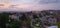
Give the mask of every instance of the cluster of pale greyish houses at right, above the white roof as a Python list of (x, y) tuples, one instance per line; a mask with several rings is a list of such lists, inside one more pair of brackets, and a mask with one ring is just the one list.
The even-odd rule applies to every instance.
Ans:
[(41, 19), (42, 25), (46, 24), (46, 25), (56, 25), (57, 23), (57, 19), (51, 16), (44, 16)]

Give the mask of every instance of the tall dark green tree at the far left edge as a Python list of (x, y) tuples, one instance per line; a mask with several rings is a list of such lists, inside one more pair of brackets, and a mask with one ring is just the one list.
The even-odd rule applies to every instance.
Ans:
[(8, 22), (8, 14), (7, 13), (2, 13), (0, 15), (0, 27), (1, 28), (6, 28), (6, 23)]

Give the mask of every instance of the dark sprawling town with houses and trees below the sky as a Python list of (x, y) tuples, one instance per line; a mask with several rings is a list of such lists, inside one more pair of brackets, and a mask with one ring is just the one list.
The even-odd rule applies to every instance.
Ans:
[(60, 24), (60, 10), (2, 12), (0, 20), (0, 28), (48, 28)]

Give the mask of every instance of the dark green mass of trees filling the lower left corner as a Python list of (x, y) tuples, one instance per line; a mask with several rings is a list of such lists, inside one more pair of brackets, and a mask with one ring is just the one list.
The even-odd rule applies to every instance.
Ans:
[[(6, 26), (6, 24), (8, 24), (8, 26)], [(0, 14), (0, 28), (20, 28), (20, 26), (21, 23), (17, 20), (10, 19), (8, 13)]]

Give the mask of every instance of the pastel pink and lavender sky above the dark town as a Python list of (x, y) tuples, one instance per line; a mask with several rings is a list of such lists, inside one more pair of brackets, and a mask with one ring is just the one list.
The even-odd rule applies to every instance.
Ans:
[(60, 0), (0, 0), (0, 11), (39, 11), (60, 9)]

